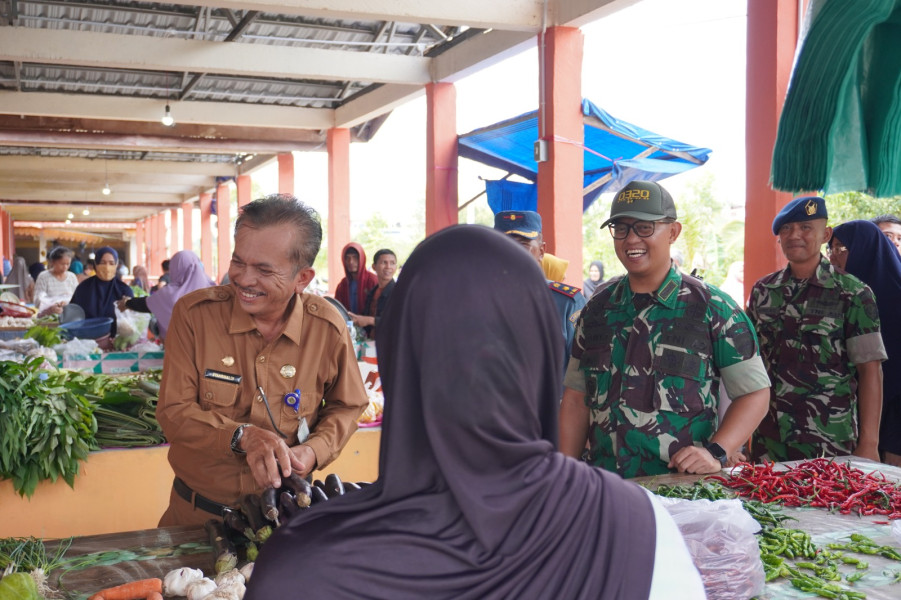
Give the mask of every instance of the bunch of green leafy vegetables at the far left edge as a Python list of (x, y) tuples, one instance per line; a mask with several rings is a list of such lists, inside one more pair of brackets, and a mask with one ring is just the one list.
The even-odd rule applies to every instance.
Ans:
[(64, 372), (39, 369), (42, 362), (0, 362), (0, 477), (21, 496), (45, 479), (72, 486), (96, 448), (93, 405), (66, 387)]

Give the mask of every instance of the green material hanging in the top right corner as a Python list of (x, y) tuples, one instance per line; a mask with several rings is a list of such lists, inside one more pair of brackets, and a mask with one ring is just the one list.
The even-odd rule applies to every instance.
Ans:
[(901, 0), (811, 0), (776, 144), (785, 191), (901, 193)]

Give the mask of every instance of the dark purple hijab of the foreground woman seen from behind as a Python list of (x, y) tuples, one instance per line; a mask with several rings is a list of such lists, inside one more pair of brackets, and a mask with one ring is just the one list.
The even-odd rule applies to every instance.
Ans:
[(377, 344), (378, 481), (279, 527), (246, 600), (648, 597), (647, 496), (556, 450), (560, 325), (528, 253), (481, 226), (432, 235)]

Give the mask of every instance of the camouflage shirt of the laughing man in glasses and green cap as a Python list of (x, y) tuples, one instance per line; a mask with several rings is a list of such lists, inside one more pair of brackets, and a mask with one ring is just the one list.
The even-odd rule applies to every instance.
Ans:
[(716, 431), (721, 376), (733, 398), (769, 386), (731, 298), (672, 268), (654, 294), (611, 280), (582, 310), (565, 379), (590, 409), (585, 459), (624, 477), (669, 473), (672, 454)]

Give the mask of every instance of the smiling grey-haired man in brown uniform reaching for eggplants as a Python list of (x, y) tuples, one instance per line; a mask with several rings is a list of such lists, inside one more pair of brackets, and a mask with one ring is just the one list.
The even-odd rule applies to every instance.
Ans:
[(243, 207), (228, 286), (175, 305), (157, 418), (175, 482), (160, 526), (202, 524), (246, 493), (337, 458), (368, 405), (344, 320), (304, 294), (322, 242), (293, 196)]

